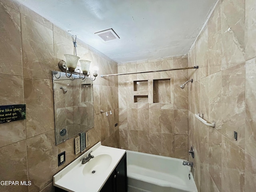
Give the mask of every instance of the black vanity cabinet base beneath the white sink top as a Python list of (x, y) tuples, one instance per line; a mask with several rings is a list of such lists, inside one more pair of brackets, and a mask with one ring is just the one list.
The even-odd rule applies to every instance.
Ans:
[(100, 190), (100, 192), (127, 192), (126, 153)]

